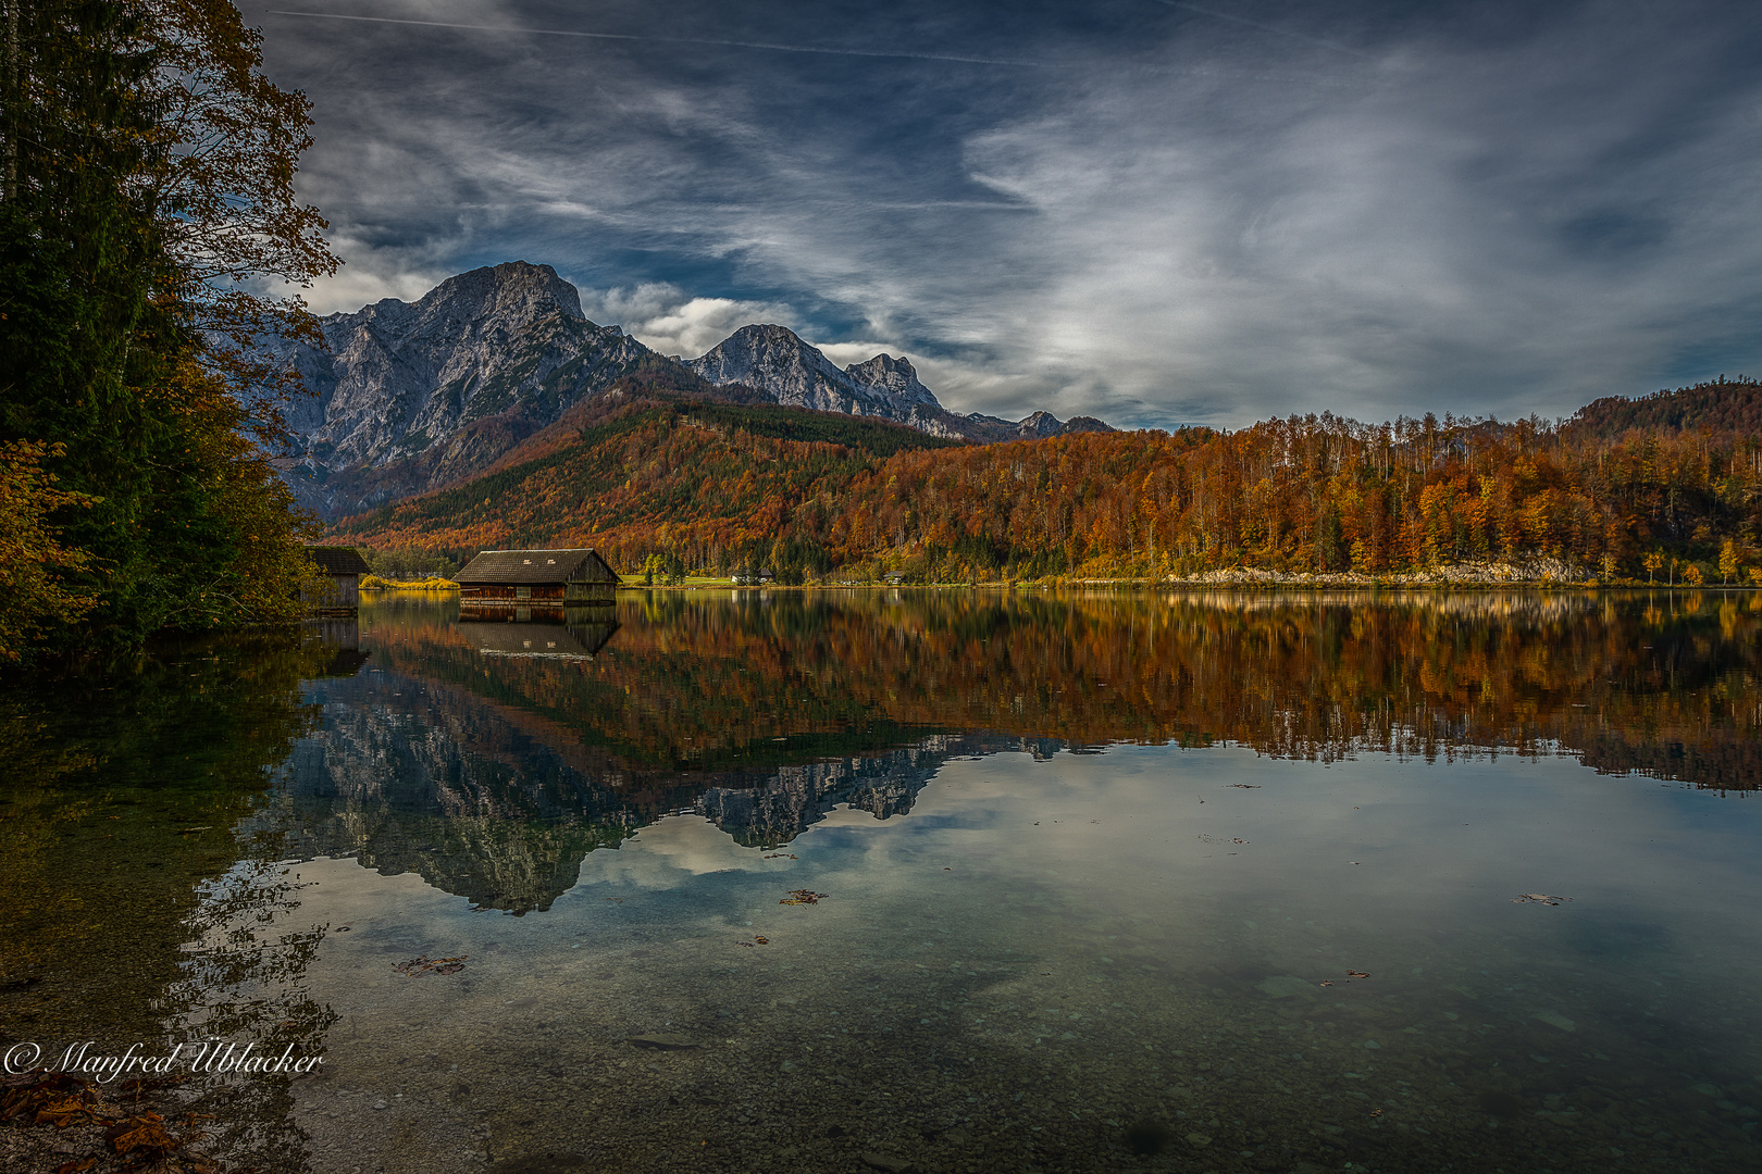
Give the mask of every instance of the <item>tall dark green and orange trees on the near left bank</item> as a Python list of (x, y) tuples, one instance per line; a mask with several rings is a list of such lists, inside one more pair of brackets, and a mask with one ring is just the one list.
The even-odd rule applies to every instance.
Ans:
[(292, 192), (308, 104), (226, 0), (0, 0), (0, 660), (292, 614), (270, 468), (335, 269)]

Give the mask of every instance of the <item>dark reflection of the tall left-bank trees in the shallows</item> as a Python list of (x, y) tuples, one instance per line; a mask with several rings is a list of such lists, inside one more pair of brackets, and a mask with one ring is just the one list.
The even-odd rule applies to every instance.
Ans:
[[(319, 709), (303, 685), (363, 664), (352, 621), (155, 644), (0, 688), (0, 1037), (49, 1054), (211, 1035), (322, 1040), (322, 933), (298, 882), (240, 838)], [(208, 1081), (187, 1109), (234, 1162), (307, 1167), (285, 1077)], [(42, 1155), (39, 1155), (42, 1156)], [(56, 1169), (78, 1155), (55, 1156)], [(28, 1160), (18, 1169), (32, 1169)]]

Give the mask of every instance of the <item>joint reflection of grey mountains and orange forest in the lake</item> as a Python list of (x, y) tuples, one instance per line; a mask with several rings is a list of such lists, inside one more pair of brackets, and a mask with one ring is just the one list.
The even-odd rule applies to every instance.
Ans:
[(481, 908), (546, 910), (666, 815), (777, 847), (951, 757), (1235, 743), (1572, 753), (1762, 781), (1755, 595), (648, 593), (532, 621), (393, 602), (254, 820)]

